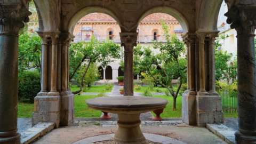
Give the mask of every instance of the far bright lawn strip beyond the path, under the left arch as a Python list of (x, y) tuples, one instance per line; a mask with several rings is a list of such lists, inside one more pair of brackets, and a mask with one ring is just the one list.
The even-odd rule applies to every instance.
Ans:
[[(112, 85), (111, 89), (106, 90), (106, 85), (93, 85), (91, 87), (89, 87), (88, 90), (86, 90), (85, 92), (101, 92), (103, 90), (105, 90), (105, 92), (111, 92), (113, 89), (114, 85)], [(72, 85), (70, 87), (71, 91), (77, 91), (79, 90), (79, 87), (77, 85)]]

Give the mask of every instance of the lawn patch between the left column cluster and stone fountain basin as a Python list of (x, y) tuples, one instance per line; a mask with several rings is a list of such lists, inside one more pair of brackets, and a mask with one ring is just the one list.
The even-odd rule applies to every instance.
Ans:
[(75, 95), (75, 117), (100, 117), (101, 111), (88, 108), (85, 101), (97, 98), (97, 95)]

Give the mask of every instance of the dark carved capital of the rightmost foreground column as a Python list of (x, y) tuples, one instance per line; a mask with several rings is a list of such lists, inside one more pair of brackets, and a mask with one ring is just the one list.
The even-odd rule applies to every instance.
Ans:
[(256, 5), (233, 5), (225, 16), (231, 28), (236, 29), (238, 35), (254, 35), (256, 28)]

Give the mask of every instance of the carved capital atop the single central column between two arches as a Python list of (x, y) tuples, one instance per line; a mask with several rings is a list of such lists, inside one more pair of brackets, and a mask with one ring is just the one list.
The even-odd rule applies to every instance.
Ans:
[(138, 33), (120, 33), (121, 45), (124, 46), (124, 51), (133, 51), (133, 47), (137, 46), (137, 36)]

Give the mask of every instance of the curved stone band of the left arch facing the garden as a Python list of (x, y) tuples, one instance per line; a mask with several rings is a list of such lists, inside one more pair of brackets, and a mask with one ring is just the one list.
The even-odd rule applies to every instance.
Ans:
[(117, 18), (117, 16), (114, 14), (113, 11), (107, 9), (106, 7), (100, 7), (100, 6), (90, 6), (90, 7), (85, 7), (84, 9), (81, 9), (79, 11), (77, 11), (72, 18), (70, 19), (70, 21), (68, 21), (68, 26), (67, 29), (69, 31), (69, 33), (73, 33), (74, 27), (77, 23), (77, 21), (79, 21), (79, 19), (81, 19), (82, 17), (84, 17), (84, 15), (90, 14), (90, 13), (94, 13), (94, 12), (98, 12), (98, 13), (105, 13), (110, 15), (110, 17), (112, 17), (113, 19), (115, 19), (117, 21), (117, 23), (119, 24), (120, 21)]

